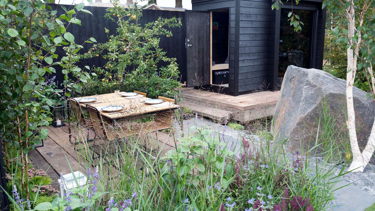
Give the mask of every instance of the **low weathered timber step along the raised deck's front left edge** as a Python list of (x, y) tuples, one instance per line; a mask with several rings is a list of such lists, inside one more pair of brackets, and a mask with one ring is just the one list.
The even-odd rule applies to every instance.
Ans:
[(182, 107), (187, 107), (193, 111), (193, 113), (197, 113), (198, 115), (214, 119), (217, 121), (224, 121), (227, 118), (231, 118), (233, 112), (219, 109), (219, 108), (212, 108), (207, 107), (205, 105), (193, 104), (191, 102), (183, 101), (180, 103)]

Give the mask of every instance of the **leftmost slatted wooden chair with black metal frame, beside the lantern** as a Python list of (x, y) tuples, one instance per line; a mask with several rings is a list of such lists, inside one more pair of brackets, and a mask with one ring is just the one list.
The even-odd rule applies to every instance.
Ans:
[[(90, 128), (92, 128), (92, 124), (90, 123), (91, 121), (88, 121), (84, 117), (84, 113), (83, 113), (83, 110), (80, 107), (80, 103), (76, 99), (69, 98), (68, 100), (69, 100), (69, 104), (70, 104), (70, 106), (73, 110), (74, 116), (77, 119), (76, 127), (78, 128), (78, 125), (82, 125), (83, 127), (87, 128), (87, 141), (88, 142), (93, 141), (95, 139), (95, 137), (94, 137), (94, 139), (89, 139)], [(74, 145), (74, 150), (77, 150), (77, 145), (80, 144), (80, 143), (83, 143), (83, 142), (77, 141), (77, 137), (76, 137), (76, 141), (72, 142), (72, 131), (71, 131), (70, 123), (68, 125), (68, 130), (69, 130), (69, 142)]]

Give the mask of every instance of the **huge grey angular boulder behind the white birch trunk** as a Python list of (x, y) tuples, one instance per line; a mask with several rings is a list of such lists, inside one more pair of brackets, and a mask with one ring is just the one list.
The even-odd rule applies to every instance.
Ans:
[[(288, 138), (287, 144), (292, 151), (314, 146), (321, 110), (326, 102), (328, 113), (336, 119), (335, 131), (339, 134), (336, 141), (349, 145), (345, 89), (345, 80), (327, 72), (289, 66), (273, 116), (275, 139)], [(375, 102), (366, 97), (366, 92), (356, 87), (353, 88), (353, 96), (357, 137), (362, 150), (374, 122)], [(321, 118), (321, 121), (323, 119), (328, 118)]]

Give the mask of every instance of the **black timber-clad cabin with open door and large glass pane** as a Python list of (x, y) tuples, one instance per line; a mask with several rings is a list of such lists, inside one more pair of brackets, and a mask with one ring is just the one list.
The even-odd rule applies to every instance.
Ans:
[[(192, 0), (186, 11), (186, 83), (228, 95), (278, 90), (288, 65), (323, 68), (323, 0)], [(303, 22), (294, 32), (292, 10)], [(213, 65), (214, 63), (214, 65)]]

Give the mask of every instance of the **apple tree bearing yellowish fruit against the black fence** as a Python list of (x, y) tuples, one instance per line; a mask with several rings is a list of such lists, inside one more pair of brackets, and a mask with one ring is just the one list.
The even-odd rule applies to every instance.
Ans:
[[(95, 44), (82, 58), (100, 56), (108, 62), (95, 69), (83, 89), (85, 95), (113, 92), (114, 89), (132, 92), (135, 89), (147, 90), (147, 96), (157, 98), (161, 93), (177, 96), (180, 87), (178, 64), (175, 58), (166, 57), (159, 47), (160, 36), (168, 38), (170, 27), (180, 27), (178, 18), (162, 18), (139, 24), (143, 7), (119, 5), (111, 1), (105, 18), (117, 24), (116, 34), (108, 34), (108, 42)], [(151, 1), (152, 2), (152, 1)], [(149, 3), (151, 3), (149, 2)], [(106, 33), (109, 31), (106, 29)]]

